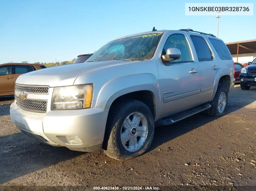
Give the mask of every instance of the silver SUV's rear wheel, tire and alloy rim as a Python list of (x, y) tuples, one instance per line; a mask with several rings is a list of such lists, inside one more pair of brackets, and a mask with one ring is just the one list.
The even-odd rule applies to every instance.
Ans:
[[(221, 101), (221, 98), (225, 97)], [(220, 85), (217, 88), (216, 94), (211, 102), (211, 107), (207, 110), (209, 116), (221, 116), (226, 113), (226, 107), (228, 104), (228, 91), (225, 86)]]

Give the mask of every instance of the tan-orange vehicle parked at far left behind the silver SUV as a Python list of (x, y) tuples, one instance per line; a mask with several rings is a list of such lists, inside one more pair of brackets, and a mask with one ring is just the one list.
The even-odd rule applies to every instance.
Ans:
[(6, 63), (0, 64), (0, 96), (14, 95), (16, 79), (25, 73), (46, 68), (41, 64)]

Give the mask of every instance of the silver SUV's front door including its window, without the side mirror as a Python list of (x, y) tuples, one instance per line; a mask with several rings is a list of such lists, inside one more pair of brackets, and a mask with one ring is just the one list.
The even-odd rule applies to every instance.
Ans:
[(161, 96), (161, 117), (165, 117), (198, 105), (200, 100), (200, 70), (194, 62), (191, 47), (185, 34), (171, 34), (162, 52), (168, 48), (181, 51), (181, 58), (164, 65), (158, 60), (158, 75)]

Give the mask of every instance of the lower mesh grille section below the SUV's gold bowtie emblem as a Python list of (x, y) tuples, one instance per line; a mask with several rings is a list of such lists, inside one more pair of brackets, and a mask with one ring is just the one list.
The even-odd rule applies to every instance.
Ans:
[(16, 104), (19, 108), (25, 111), (38, 113), (46, 113), (47, 100), (21, 99), (15, 95)]

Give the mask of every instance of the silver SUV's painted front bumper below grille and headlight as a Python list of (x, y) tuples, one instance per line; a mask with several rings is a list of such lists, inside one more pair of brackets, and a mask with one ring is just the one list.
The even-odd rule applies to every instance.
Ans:
[[(90, 152), (101, 150), (109, 107), (55, 110), (38, 116), (24, 113), (14, 102), (10, 115), (18, 129), (40, 142)], [(77, 135), (82, 143), (69, 143), (67, 135)]]

